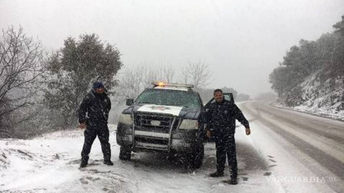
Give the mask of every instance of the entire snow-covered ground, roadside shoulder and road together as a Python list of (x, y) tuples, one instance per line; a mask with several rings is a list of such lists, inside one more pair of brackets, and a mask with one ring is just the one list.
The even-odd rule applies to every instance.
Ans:
[[(203, 166), (197, 170), (161, 154), (119, 160), (115, 125), (110, 125), (114, 166), (102, 163), (96, 139), (90, 164), (78, 169), (81, 130), (0, 140), (0, 192), (343, 192), (344, 122), (255, 101), (239, 106), (252, 134), (246, 136), (243, 126), (236, 131), (238, 185), (226, 183), (227, 168), (223, 178), (208, 177), (216, 170), (212, 143), (206, 144)], [(313, 182), (316, 177), (332, 181)], [(302, 182), (293, 180), (300, 178)]]

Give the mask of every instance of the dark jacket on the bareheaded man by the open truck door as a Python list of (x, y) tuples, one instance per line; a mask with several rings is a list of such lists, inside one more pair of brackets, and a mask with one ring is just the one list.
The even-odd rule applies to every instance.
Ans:
[(214, 102), (209, 105), (206, 120), (207, 128), (216, 136), (234, 134), (235, 120), (238, 120), (245, 128), (249, 127), (248, 121), (238, 106), (225, 99), (221, 103)]

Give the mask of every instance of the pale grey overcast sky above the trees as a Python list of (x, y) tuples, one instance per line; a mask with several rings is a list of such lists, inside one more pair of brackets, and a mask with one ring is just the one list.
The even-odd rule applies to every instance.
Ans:
[(47, 49), (97, 33), (116, 44), (125, 66), (204, 62), (208, 88), (256, 96), (301, 38), (332, 32), (344, 0), (0, 0), (0, 27), (22, 25)]

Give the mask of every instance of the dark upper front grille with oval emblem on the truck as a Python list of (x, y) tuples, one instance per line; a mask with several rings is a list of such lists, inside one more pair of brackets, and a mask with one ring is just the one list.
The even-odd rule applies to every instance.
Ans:
[[(174, 117), (170, 115), (135, 114), (135, 130), (149, 132), (170, 133), (170, 127)], [(173, 124), (173, 129), (178, 125), (178, 121)]]

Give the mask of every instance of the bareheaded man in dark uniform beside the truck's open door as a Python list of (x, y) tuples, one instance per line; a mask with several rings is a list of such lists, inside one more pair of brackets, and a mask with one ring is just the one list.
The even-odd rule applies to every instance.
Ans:
[(246, 128), (246, 135), (250, 135), (248, 121), (244, 117), (238, 106), (223, 98), (221, 89), (214, 91), (215, 102), (209, 105), (206, 112), (207, 118), (207, 137), (212, 136), (216, 145), (216, 169), (210, 177), (223, 177), (226, 155), (230, 167), (230, 182), (237, 184), (238, 166), (235, 147), (235, 120), (238, 120)]

